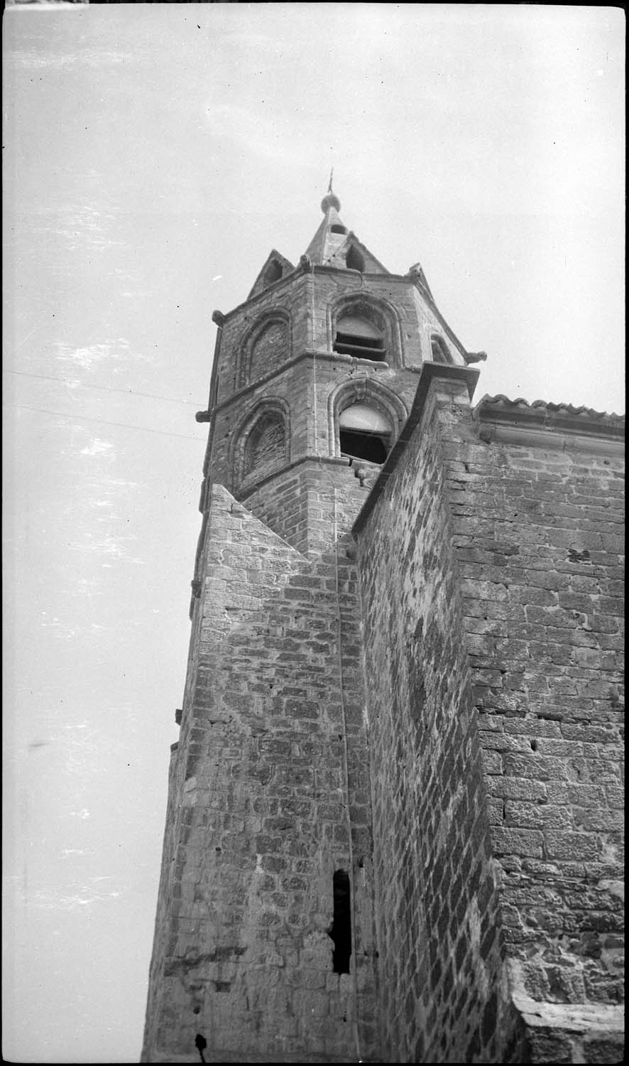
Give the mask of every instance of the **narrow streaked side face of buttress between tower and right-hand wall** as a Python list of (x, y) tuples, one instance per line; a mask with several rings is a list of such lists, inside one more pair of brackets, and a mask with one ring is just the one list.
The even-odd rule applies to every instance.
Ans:
[(358, 534), (385, 1062), (501, 1062), (510, 1036), (442, 466), (452, 405), (430, 394)]

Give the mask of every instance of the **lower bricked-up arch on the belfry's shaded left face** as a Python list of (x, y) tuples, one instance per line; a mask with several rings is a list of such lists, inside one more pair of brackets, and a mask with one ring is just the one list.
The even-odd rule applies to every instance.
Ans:
[(279, 398), (260, 400), (241, 419), (230, 448), (236, 486), (247, 486), (291, 462), (291, 411)]

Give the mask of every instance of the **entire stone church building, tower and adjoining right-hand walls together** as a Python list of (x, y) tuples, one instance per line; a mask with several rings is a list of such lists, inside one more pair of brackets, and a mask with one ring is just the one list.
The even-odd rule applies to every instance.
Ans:
[(142, 1061), (618, 1062), (624, 419), (321, 208), (213, 316)]

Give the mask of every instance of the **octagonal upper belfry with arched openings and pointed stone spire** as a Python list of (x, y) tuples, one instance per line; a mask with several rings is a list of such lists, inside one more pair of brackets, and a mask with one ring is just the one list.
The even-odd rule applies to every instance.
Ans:
[[(417, 264), (388, 273), (343, 223), (331, 182), (294, 266), (275, 249), (218, 326), (202, 511), (221, 484), (307, 555), (329, 546), (321, 486), (345, 520), (404, 424), (428, 361), (469, 357)], [(346, 513), (347, 512), (347, 513)]]

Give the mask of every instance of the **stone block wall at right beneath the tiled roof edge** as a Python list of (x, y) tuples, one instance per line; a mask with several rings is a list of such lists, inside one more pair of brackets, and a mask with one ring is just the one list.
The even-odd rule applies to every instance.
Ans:
[(512, 987), (548, 1023), (531, 1061), (614, 1061), (623, 465), (582, 437), (484, 442), (467, 413), (444, 433)]

